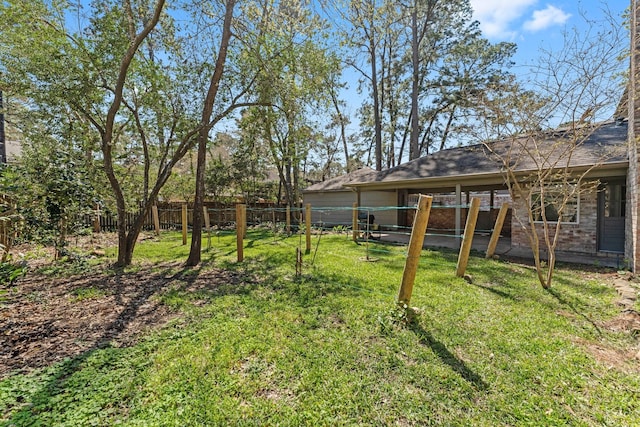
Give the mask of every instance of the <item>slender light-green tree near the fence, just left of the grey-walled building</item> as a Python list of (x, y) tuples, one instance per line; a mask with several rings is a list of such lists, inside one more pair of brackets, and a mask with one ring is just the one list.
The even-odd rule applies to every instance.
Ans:
[(268, 147), (284, 198), (296, 206), (304, 164), (319, 138), (317, 118), (331, 108), (327, 88), (336, 85), (339, 61), (324, 45), (324, 22), (303, 2), (265, 1), (254, 21), (259, 31), (245, 43), (259, 70), (256, 95), (263, 105), (244, 112), (241, 138)]

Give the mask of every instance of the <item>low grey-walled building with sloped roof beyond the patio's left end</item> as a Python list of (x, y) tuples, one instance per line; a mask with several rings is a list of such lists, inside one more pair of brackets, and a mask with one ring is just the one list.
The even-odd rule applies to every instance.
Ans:
[(396, 213), (381, 211), (375, 208), (395, 206), (397, 201), (394, 190), (367, 191), (358, 193), (345, 186), (354, 180), (373, 179), (376, 171), (370, 168), (358, 169), (336, 178), (313, 184), (302, 191), (305, 204), (312, 206), (311, 221), (314, 224), (326, 226), (351, 225), (353, 220), (353, 204), (357, 203), (362, 209), (371, 208), (370, 213), (375, 216), (376, 223), (395, 222)]

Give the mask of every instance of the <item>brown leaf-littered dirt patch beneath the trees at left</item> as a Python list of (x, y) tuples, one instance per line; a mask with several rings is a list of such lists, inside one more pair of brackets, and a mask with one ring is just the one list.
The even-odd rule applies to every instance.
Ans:
[(30, 274), (0, 299), (0, 378), (28, 372), (105, 345), (129, 346), (179, 316), (159, 298), (238, 283), (226, 270), (179, 264), (136, 273), (95, 272), (72, 278)]

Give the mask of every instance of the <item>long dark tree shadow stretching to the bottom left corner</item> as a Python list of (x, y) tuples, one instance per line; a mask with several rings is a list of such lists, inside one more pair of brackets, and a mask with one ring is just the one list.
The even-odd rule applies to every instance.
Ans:
[[(93, 393), (91, 381), (87, 380), (88, 382), (85, 381), (79, 385), (77, 380), (70, 382), (70, 378), (76, 374), (89, 375), (82, 374), (88, 359), (102, 350), (109, 353), (100, 358), (98, 365), (92, 362), (91, 369), (109, 369), (113, 360), (121, 357), (118, 356), (121, 349), (112, 344), (114, 340), (120, 341), (121, 345), (124, 344), (126, 347), (137, 341), (135, 333), (145, 330), (148, 326), (162, 324), (162, 322), (155, 323), (157, 320), (154, 316), (162, 305), (158, 302), (157, 297), (165, 294), (169, 287), (173, 288), (176, 282), (178, 291), (183, 293), (182, 297), (185, 299), (189, 294), (195, 294), (197, 298), (203, 290), (207, 293), (215, 293), (216, 296), (250, 291), (249, 287), (240, 286), (244, 280), (242, 276), (225, 274), (223, 270), (203, 273), (201, 268), (184, 268), (172, 264), (154, 272), (145, 269), (136, 272), (112, 270), (112, 273), (111, 275), (104, 273), (96, 275), (92, 283), (97, 288), (110, 291), (110, 294), (113, 295), (114, 309), (119, 310), (117, 316), (111, 318), (109, 323), (103, 325), (99, 331), (94, 331), (90, 345), (80, 353), (75, 355), (61, 353), (54, 359), (66, 355), (67, 357), (62, 362), (49, 367), (46, 367), (46, 364), (38, 366), (45, 367), (45, 371), (39, 374), (36, 387), (30, 388), (28, 391), (22, 390), (15, 395), (13, 402), (2, 402), (3, 412), (5, 412), (9, 425), (46, 425), (48, 423), (46, 421), (48, 419), (47, 413), (60, 411), (62, 409), (60, 402), (75, 401), (74, 396), (82, 397), (86, 393)], [(86, 280), (87, 277), (84, 279)], [(234, 284), (238, 286), (234, 286)], [(140, 325), (140, 323), (142, 324)], [(127, 329), (132, 324), (135, 324), (133, 326), (135, 331), (134, 335), (129, 336), (130, 332)], [(15, 412), (9, 416), (8, 414), (12, 410)], [(102, 408), (98, 407), (97, 410), (101, 411)]]

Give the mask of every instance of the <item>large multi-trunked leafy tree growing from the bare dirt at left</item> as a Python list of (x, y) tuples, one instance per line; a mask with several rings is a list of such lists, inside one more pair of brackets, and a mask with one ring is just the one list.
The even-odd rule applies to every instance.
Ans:
[[(196, 144), (206, 144), (213, 126), (243, 105), (247, 93), (234, 92), (234, 80), (224, 78), (235, 3), (173, 3), (171, 13), (190, 18), (180, 28), (163, 13), (164, 3), (0, 5), (6, 41), (0, 85), (20, 94), (27, 109), (75, 117), (97, 134), (84, 134), (95, 144), (87, 144), (87, 159), (104, 172), (116, 206), (118, 266), (131, 262), (144, 218), (173, 168)], [(129, 186), (131, 176), (140, 185)], [(201, 182), (202, 168), (197, 176)], [(131, 224), (128, 212), (135, 213)]]

